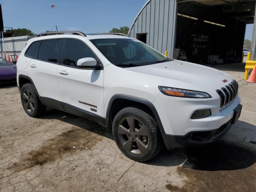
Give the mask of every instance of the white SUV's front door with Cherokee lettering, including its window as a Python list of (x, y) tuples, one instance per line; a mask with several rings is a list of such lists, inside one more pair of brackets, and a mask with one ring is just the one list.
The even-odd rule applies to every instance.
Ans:
[(77, 68), (77, 61), (86, 57), (95, 58), (98, 65), (102, 65), (85, 42), (64, 39), (61, 64), (57, 70), (59, 98), (68, 112), (104, 117), (104, 70)]

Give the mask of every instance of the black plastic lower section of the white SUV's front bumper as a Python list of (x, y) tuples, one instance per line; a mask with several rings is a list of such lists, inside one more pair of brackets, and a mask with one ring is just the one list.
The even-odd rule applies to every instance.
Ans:
[(218, 129), (208, 131), (189, 132), (185, 136), (173, 136), (164, 134), (163, 139), (167, 149), (179, 147), (196, 147), (208, 144), (222, 138), (232, 127), (230, 121), (220, 126)]

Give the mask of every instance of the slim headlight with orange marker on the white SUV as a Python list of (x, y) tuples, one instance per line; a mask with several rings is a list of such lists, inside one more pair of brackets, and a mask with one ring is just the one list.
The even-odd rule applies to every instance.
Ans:
[(168, 96), (186, 97), (186, 98), (212, 98), (208, 93), (202, 91), (193, 91), (173, 87), (158, 86), (159, 90)]

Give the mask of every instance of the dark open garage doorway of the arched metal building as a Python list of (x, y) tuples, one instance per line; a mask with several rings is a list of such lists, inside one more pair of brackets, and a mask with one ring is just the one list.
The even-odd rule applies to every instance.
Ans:
[(242, 62), (246, 24), (255, 0), (178, 0), (176, 42), (180, 60), (200, 64)]

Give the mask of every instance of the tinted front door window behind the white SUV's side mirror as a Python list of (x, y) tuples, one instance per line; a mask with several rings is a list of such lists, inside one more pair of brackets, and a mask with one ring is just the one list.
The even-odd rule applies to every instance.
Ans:
[(95, 54), (84, 44), (78, 40), (66, 39), (63, 51), (63, 64), (76, 67), (77, 61), (81, 58), (92, 57), (97, 60)]

